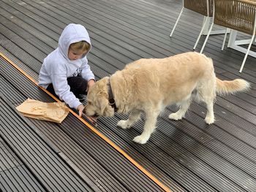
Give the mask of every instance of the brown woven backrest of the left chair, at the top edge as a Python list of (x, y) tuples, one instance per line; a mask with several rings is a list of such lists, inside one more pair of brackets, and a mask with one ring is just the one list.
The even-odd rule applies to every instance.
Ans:
[(212, 17), (213, 0), (184, 0), (183, 3), (187, 9)]

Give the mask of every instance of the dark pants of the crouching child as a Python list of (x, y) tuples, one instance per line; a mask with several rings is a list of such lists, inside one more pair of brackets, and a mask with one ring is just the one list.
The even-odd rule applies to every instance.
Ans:
[[(87, 95), (86, 89), (87, 89), (87, 81), (83, 79), (83, 77), (68, 77), (67, 78), (67, 84), (70, 87), (70, 91), (74, 93), (76, 97), (78, 97), (80, 94)], [(47, 91), (52, 93), (54, 96), (59, 98), (59, 96), (56, 95), (53, 84), (50, 83), (48, 87), (46, 88)]]

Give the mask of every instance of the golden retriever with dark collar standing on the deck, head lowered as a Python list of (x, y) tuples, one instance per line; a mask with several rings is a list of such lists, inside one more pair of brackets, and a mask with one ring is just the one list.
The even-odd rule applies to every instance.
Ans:
[(131, 127), (140, 112), (146, 115), (143, 133), (133, 141), (144, 144), (154, 131), (157, 116), (168, 105), (179, 110), (169, 115), (172, 120), (184, 117), (192, 99), (206, 103), (206, 123), (214, 123), (214, 100), (217, 93), (236, 93), (249, 89), (249, 82), (219, 80), (211, 58), (189, 52), (168, 58), (141, 58), (121, 71), (97, 81), (87, 95), (84, 112), (88, 116), (112, 117), (114, 112), (129, 113), (128, 120), (117, 126)]

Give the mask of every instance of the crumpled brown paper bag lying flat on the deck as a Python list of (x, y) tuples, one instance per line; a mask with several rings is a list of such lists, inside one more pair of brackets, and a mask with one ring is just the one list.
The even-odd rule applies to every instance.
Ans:
[(26, 117), (49, 120), (56, 123), (61, 123), (69, 114), (69, 108), (65, 103), (45, 103), (33, 99), (27, 99), (16, 109)]

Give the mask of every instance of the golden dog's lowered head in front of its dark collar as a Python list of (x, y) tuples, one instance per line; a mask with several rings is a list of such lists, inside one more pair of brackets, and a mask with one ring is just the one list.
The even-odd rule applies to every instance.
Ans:
[(114, 115), (114, 109), (108, 101), (108, 80), (109, 77), (104, 77), (89, 89), (87, 104), (83, 110), (87, 116), (112, 117)]

